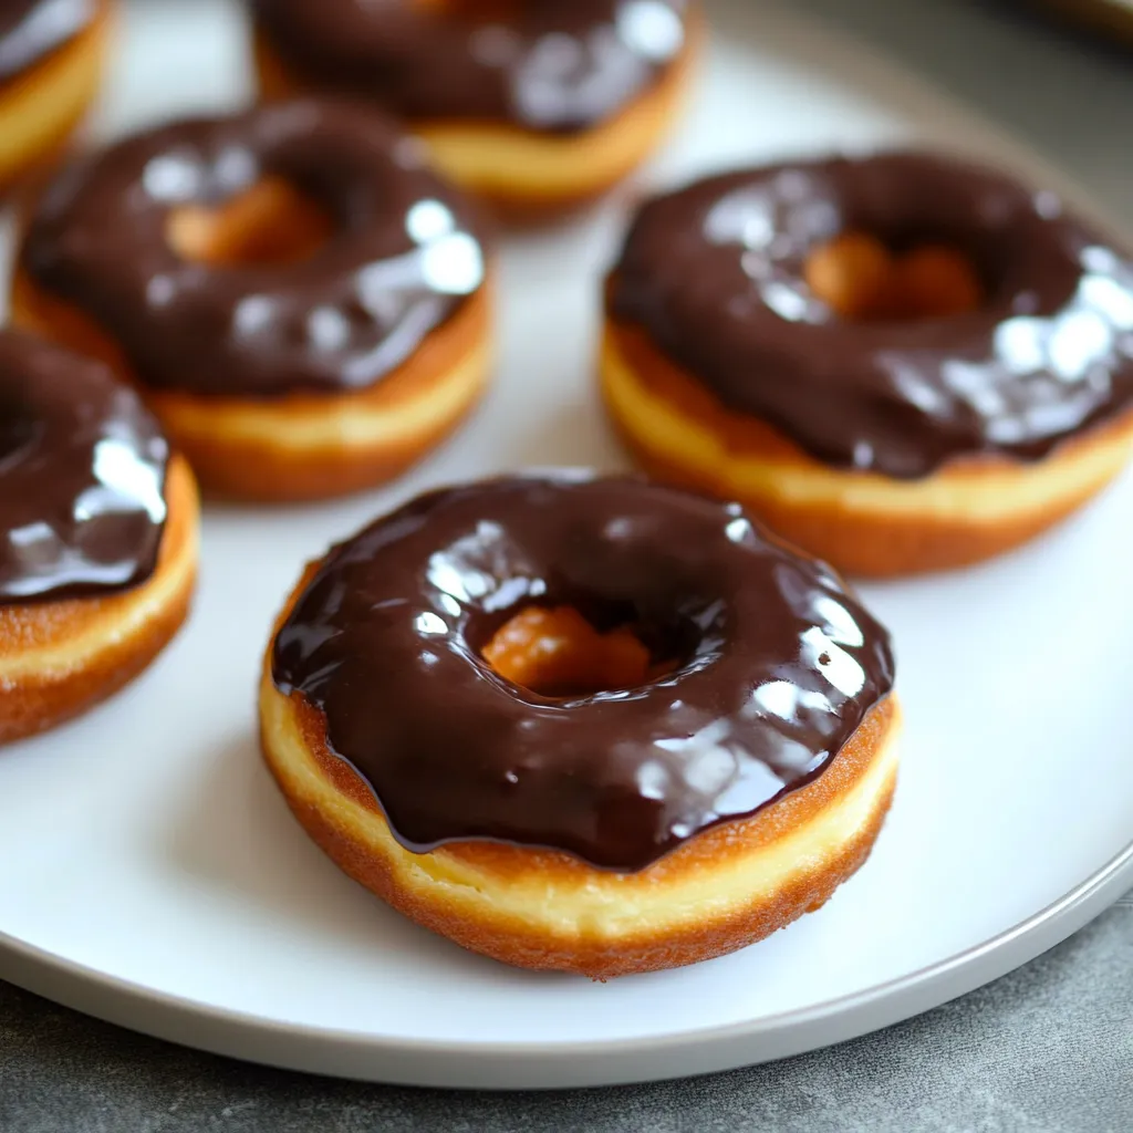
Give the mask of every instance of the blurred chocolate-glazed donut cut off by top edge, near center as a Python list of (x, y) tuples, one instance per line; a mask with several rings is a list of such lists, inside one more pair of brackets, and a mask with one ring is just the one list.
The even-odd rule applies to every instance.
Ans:
[(661, 143), (698, 0), (253, 0), (267, 97), (331, 90), (407, 119), (453, 180), (512, 219), (605, 193)]

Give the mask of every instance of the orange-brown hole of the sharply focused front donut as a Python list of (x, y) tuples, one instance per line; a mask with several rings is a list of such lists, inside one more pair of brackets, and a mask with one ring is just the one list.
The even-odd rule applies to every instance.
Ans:
[(600, 629), (574, 606), (527, 606), (496, 630), (480, 656), (505, 681), (544, 697), (631, 689), (678, 666), (655, 661), (629, 624)]

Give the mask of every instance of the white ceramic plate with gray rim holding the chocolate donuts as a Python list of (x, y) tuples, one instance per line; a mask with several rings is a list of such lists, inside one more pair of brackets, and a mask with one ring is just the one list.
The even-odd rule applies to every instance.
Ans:
[[(1025, 155), (783, 8), (712, 6), (716, 36), (655, 184), (730, 161), (917, 137)], [(220, 0), (137, 2), (111, 134), (246, 93)], [(1043, 174), (1046, 176), (1046, 174)], [(305, 559), (437, 483), (622, 458), (594, 394), (614, 202), (503, 257), (502, 365), (459, 437), (385, 492), (213, 508), (196, 612), (122, 696), (0, 757), (0, 976), (246, 1058), (444, 1085), (599, 1084), (775, 1058), (881, 1026), (1049, 947), (1133, 885), (1133, 479), (990, 565), (870, 587), (908, 715), (892, 817), (821, 912), (723, 960), (608, 985), (512, 971), (402, 920), (292, 821), (254, 687)]]

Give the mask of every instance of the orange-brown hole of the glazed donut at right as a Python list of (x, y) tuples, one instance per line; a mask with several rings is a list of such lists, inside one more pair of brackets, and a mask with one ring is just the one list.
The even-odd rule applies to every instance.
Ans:
[(946, 318), (985, 298), (971, 257), (936, 240), (893, 248), (869, 232), (842, 232), (810, 252), (803, 275), (815, 296), (854, 322)]

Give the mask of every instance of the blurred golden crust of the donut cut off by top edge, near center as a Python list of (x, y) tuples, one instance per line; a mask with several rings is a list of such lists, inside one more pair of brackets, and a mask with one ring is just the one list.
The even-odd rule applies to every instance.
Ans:
[[(704, 16), (687, 17), (681, 53), (617, 114), (577, 135), (543, 135), (496, 122), (414, 122), (435, 165), (503, 219), (525, 222), (570, 213), (608, 193), (661, 145), (680, 113), (705, 40)], [(261, 96), (310, 93), (261, 32), (254, 35)]]

